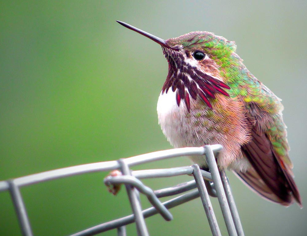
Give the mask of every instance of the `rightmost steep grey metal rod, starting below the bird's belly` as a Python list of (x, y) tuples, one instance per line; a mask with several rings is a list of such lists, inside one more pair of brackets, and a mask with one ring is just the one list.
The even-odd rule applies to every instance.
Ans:
[(232, 219), (233, 219), (233, 222), (235, 223), (235, 230), (237, 231), (238, 236), (244, 236), (243, 227), (240, 221), (238, 209), (237, 209), (237, 206), (235, 205), (235, 199), (233, 198), (233, 195), (231, 193), (231, 187), (230, 187), (225, 171), (221, 170), (220, 175), (221, 175), (223, 187), (226, 193), (226, 198), (228, 201)]

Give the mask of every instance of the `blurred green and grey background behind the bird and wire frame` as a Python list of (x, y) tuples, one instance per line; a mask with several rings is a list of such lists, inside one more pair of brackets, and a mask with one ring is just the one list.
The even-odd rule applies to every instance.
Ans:
[[(115, 20), (164, 39), (206, 30), (235, 40), (247, 68), (283, 99), (305, 205), (267, 202), (228, 173), (245, 234), (306, 235), (306, 12), (305, 0), (1, 1), (0, 180), (171, 148), (156, 114), (168, 68), (162, 50)], [(137, 168), (188, 164), (179, 158)], [(34, 235), (68, 235), (130, 214), (125, 191), (107, 192), (106, 175), (23, 187)], [(145, 183), (157, 189), (190, 179)], [(0, 193), (0, 212), (0, 235), (21, 235), (8, 192)], [(151, 235), (211, 234), (200, 199), (171, 213), (172, 222), (146, 220)], [(135, 235), (135, 226), (127, 232)]]

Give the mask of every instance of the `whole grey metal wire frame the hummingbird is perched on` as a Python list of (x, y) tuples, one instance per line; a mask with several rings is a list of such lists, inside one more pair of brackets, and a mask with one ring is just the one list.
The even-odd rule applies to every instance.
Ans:
[[(20, 187), (72, 175), (120, 169), (122, 175), (108, 176), (104, 179), (104, 182), (107, 185), (125, 184), (133, 214), (110, 222), (102, 223), (100, 225), (72, 234), (71, 236), (95, 235), (111, 229), (117, 229), (118, 235), (124, 236), (126, 235), (125, 225), (133, 222), (136, 223), (138, 235), (146, 236), (149, 235), (149, 233), (144, 218), (159, 213), (165, 220), (172, 220), (173, 216), (168, 209), (188, 202), (199, 196), (204, 206), (204, 210), (208, 218), (212, 235), (219, 236), (221, 235), (221, 232), (213, 211), (209, 195), (217, 196), (219, 199), (228, 234), (230, 236), (243, 236), (243, 228), (240, 222), (239, 214), (235, 206), (233, 196), (231, 194), (231, 188), (227, 176), (225, 174), (225, 171), (218, 170), (216, 159), (213, 154), (213, 152), (215, 152), (216, 155), (218, 155), (218, 152), (221, 151), (222, 148), (223, 147), (220, 144), (216, 144), (206, 145), (204, 147), (199, 148), (169, 149), (138, 155), (126, 159), (119, 159), (118, 161), (90, 163), (61, 168), (52, 171), (45, 171), (42, 173), (19, 177), (16, 179), (0, 181), (0, 192), (10, 191), (22, 234), (24, 236), (32, 236), (33, 233), (26, 212), (25, 204), (21, 196)], [(207, 171), (200, 170), (199, 166), (196, 164), (192, 166), (175, 167), (168, 169), (140, 171), (130, 171), (129, 169), (129, 167), (141, 163), (147, 163), (161, 159), (186, 155), (205, 155), (208, 167), (210, 169), (210, 173)], [(192, 175), (194, 176), (195, 180), (156, 191), (153, 191), (140, 181), (140, 179), (145, 178), (170, 177), (177, 175)], [(197, 190), (192, 190), (196, 187)], [(189, 192), (177, 196), (168, 201), (165, 201), (163, 203), (161, 203), (158, 199), (165, 196), (177, 195), (186, 191)], [(141, 203), (139, 200), (139, 193), (146, 195), (153, 207), (150, 207), (146, 210), (142, 210)]]

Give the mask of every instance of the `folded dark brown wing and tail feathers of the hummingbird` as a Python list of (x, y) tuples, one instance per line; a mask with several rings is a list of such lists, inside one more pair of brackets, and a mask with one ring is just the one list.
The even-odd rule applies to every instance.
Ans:
[(251, 122), (252, 139), (242, 146), (243, 155), (253, 168), (246, 173), (238, 173), (251, 188), (271, 201), (290, 205), (293, 198), (301, 206), (301, 197), (294, 183), (291, 171), (274, 153), (266, 134)]

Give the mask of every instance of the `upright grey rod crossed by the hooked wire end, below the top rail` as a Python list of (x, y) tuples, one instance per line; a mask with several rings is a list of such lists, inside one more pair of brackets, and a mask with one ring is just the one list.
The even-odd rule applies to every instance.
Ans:
[[(121, 167), (121, 171), (122, 174), (124, 175), (131, 175), (130, 169), (128, 164), (125, 162), (124, 159), (119, 159), (118, 163)], [(142, 214), (142, 207), (141, 207), (141, 203), (138, 199), (138, 195), (136, 193), (136, 189), (134, 187), (132, 187), (131, 185), (125, 185), (126, 186), (126, 191), (130, 200), (130, 205), (133, 211), (133, 214), (135, 216), (135, 224), (136, 224), (136, 228), (138, 231), (138, 234), (140, 236), (149, 236), (146, 224), (145, 224), (145, 220)]]

